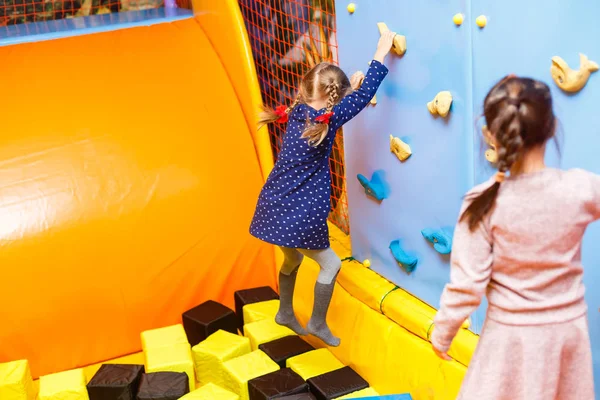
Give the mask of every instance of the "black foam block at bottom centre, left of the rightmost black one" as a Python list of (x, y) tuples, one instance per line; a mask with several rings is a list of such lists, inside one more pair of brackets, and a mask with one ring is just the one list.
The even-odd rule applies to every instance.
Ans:
[(254, 378), (248, 382), (250, 400), (273, 400), (281, 396), (308, 393), (308, 384), (289, 368)]

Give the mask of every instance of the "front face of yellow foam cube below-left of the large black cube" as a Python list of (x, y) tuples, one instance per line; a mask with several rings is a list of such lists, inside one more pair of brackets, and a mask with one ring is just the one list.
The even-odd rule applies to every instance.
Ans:
[(146, 373), (185, 372), (189, 377), (190, 390), (196, 387), (194, 361), (189, 343), (175, 343), (170, 346), (151, 347), (146, 350)]

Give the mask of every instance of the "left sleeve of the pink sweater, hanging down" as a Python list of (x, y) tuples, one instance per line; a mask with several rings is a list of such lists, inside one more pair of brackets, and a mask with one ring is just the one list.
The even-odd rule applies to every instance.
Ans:
[[(463, 203), (463, 209), (468, 200)], [(471, 232), (467, 221), (459, 222), (454, 231), (450, 260), (450, 283), (440, 301), (434, 319), (431, 344), (447, 353), (463, 322), (479, 307), (492, 274), (492, 242), (486, 223)]]

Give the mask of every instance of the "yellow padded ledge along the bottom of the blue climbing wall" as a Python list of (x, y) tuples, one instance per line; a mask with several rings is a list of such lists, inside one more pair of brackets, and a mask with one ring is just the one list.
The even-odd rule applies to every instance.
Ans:
[[(333, 225), (330, 236), (336, 253), (342, 259), (350, 257), (350, 238)], [(298, 273), (294, 308), (303, 324), (312, 311), (318, 271), (318, 266), (307, 260)], [(330, 313), (328, 322), (342, 339), (341, 346), (330, 348), (340, 361), (353, 367), (382, 395), (456, 398), (477, 335), (462, 330), (450, 351), (454, 360), (442, 361), (427, 340), (434, 308), (357, 261), (344, 261), (337, 282), (331, 309), (344, 312)], [(313, 337), (307, 340), (316, 347), (324, 346)]]

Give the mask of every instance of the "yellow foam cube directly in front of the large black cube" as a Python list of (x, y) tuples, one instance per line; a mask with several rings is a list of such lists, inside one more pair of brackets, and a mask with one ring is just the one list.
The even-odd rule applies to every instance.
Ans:
[(250, 339), (219, 330), (192, 348), (196, 379), (223, 385), (224, 362), (250, 353)]

